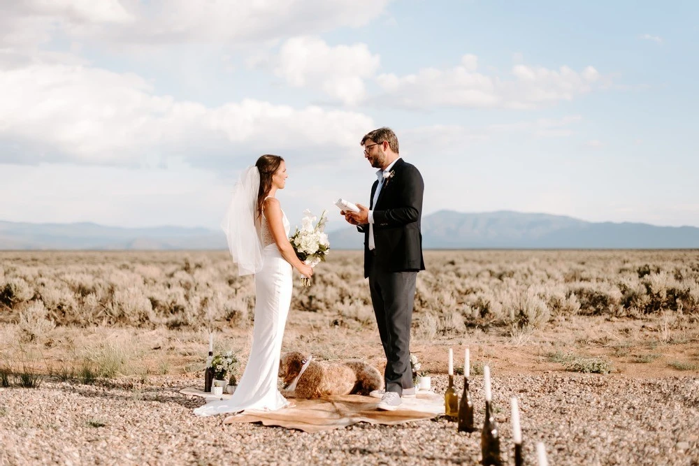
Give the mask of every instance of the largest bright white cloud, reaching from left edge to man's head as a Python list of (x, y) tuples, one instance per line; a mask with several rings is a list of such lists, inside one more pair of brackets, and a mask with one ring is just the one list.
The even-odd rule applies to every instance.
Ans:
[[(293, 108), (254, 99), (209, 108), (154, 93), (133, 73), (32, 64), (0, 70), (0, 152), (5, 161), (139, 164), (186, 156), (192, 163), (250, 151), (332, 152), (373, 128), (357, 112)], [(209, 160), (207, 160), (209, 159)]]

